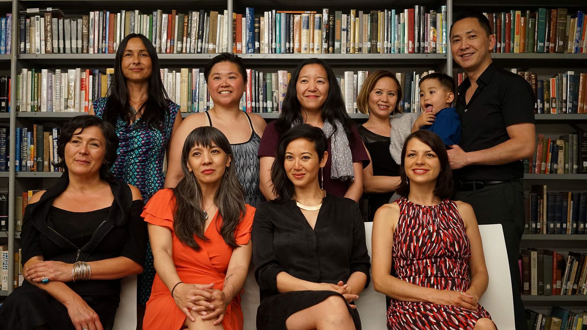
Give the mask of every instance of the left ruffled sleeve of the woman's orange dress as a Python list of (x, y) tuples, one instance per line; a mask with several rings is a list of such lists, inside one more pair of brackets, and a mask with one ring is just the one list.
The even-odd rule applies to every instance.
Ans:
[(166, 227), (173, 231), (173, 209), (175, 207), (175, 197), (173, 190), (161, 189), (149, 199), (147, 205), (143, 208), (144, 220), (157, 226)]

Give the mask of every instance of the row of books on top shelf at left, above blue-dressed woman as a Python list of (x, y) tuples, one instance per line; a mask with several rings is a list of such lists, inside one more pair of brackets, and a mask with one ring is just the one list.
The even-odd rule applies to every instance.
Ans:
[(112, 54), (129, 33), (149, 38), (157, 53), (221, 53), (231, 49), (227, 43), (232, 23), (228, 11), (91, 11), (80, 18), (63, 18), (56, 8), (41, 12), (30, 18), (19, 16), (21, 54)]

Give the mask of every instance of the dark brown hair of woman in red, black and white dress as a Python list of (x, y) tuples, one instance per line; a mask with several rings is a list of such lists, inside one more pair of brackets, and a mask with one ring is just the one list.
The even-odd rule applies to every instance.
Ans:
[(429, 147), (434, 151), (434, 154), (438, 157), (438, 161), (440, 162), (440, 172), (438, 173), (438, 177), (436, 178), (436, 187), (434, 187), (434, 195), (440, 197), (441, 199), (451, 198), (453, 197), (454, 192), (454, 183), (453, 183), (453, 170), (450, 168), (450, 162), (448, 161), (448, 154), (446, 152), (446, 147), (444, 146), (444, 142), (438, 135), (434, 134), (430, 131), (415, 131), (412, 134), (408, 135), (406, 141), (404, 141), (404, 146), (402, 148), (402, 165), (400, 165), (400, 177), (402, 181), (400, 182), (400, 186), (396, 189), (396, 192), (404, 197), (410, 193), (410, 185), (407, 183), (407, 176), (406, 170), (404, 169), (405, 159), (406, 159), (406, 148), (407, 142), (411, 139), (416, 138), (423, 143), (429, 145)]

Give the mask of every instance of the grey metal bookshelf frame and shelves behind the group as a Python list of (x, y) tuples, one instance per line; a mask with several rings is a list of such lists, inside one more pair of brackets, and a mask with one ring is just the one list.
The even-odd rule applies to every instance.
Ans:
[[(481, 9), (483, 11), (493, 12), (515, 9), (536, 9), (538, 7), (556, 8), (549, 0), (532, 0), (529, 2), (519, 1), (521, 4), (512, 4), (511, 1), (505, 0), (488, 0), (480, 4), (470, 0), (398, 0), (389, 4), (384, 0), (366, 0), (357, 5), (356, 0), (336, 0), (316, 2), (313, 0), (207, 0), (207, 1), (188, 1), (188, 0), (0, 0), (0, 11), (11, 11), (13, 13), (12, 21), (12, 55), (0, 55), (0, 71), (10, 72), (11, 77), (16, 77), (20, 70), (25, 69), (73, 69), (75, 67), (92, 67), (95, 69), (105, 69), (112, 67), (114, 54), (20, 54), (18, 53), (18, 11), (25, 8), (44, 8), (52, 6), (60, 8), (66, 13), (66, 17), (79, 17), (92, 10), (113, 10), (121, 9), (144, 9), (144, 13), (149, 13), (153, 9), (163, 9), (164, 12), (170, 12), (171, 9), (177, 9), (178, 12), (187, 12), (190, 10), (205, 9), (206, 11), (222, 10), (228, 11), (228, 16), (232, 12), (244, 13), (246, 7), (255, 8), (255, 13), (271, 9), (289, 9), (289, 10), (315, 10), (320, 12), (323, 7), (328, 7), (331, 11), (347, 11), (348, 9), (384, 9), (384, 8), (410, 8), (414, 5), (425, 5), (427, 9), (436, 9), (441, 5), (447, 6), (447, 29), (452, 22), (453, 11), (465, 8)], [(565, 1), (564, 5), (569, 11), (576, 9), (587, 9), (583, 0)], [(232, 34), (228, 33), (228, 44), (232, 42)], [(215, 54), (177, 54), (177, 53), (159, 53), (157, 54), (161, 67), (199, 67), (203, 68)], [(447, 53), (413, 53), (413, 54), (238, 54), (245, 66), (252, 69), (268, 69), (275, 72), (278, 69), (293, 69), (299, 62), (308, 57), (319, 57), (328, 61), (333, 66), (335, 72), (339, 74), (342, 70), (377, 70), (390, 69), (399, 71), (412, 70), (414, 68), (425, 68), (453, 73), (454, 63), (450, 49)], [(507, 69), (517, 68), (523, 71), (538, 70), (541, 77), (548, 74), (555, 74), (569, 70), (571, 67), (576, 71), (587, 72), (587, 54), (567, 54), (567, 53), (492, 53), (494, 61)], [(7, 74), (7, 73), (5, 73)], [(66, 120), (69, 120), (80, 113), (75, 112), (17, 112), (16, 109), (16, 79), (12, 79), (11, 84), (11, 113), (0, 113), (0, 125), (9, 122), (10, 138), (15, 141), (15, 127), (17, 125), (27, 127), (33, 123), (50, 123), (52, 127), (59, 127)], [(190, 113), (182, 113), (182, 117), (187, 117)], [(278, 113), (260, 113), (265, 120), (275, 120)], [(350, 114), (350, 117), (357, 122), (365, 121), (368, 117), (363, 114)], [(536, 114), (537, 132), (548, 130), (552, 133), (564, 134), (575, 131), (576, 128), (587, 129), (587, 114)], [(15, 155), (15, 145), (9, 146), (10, 155)], [(15, 238), (18, 239), (18, 232), (14, 231), (14, 213), (16, 193), (24, 189), (35, 189), (49, 186), (55, 178), (59, 178), (59, 172), (15, 172), (15, 157), (11, 157), (11, 166), (9, 172), (0, 172), (0, 182), (8, 181), (9, 191), (9, 230), (0, 232), (0, 240), (8, 240), (9, 251), (15, 251)], [(525, 174), (524, 182), (526, 189), (531, 184), (547, 184), (556, 189), (585, 190), (587, 186), (587, 174)], [(545, 247), (559, 250), (581, 250), (581, 247), (587, 243), (587, 234), (524, 234), (522, 237), (522, 247)], [(17, 249), (18, 250), (18, 249)], [(585, 251), (584, 248), (582, 251)], [(14, 262), (9, 262), (9, 274), (14, 271)], [(11, 292), (9, 288), (8, 292)], [(5, 291), (0, 291), (0, 295), (5, 295)], [(547, 307), (552, 304), (562, 305), (579, 309), (587, 307), (587, 298), (585, 296), (522, 296), (528, 307)]]

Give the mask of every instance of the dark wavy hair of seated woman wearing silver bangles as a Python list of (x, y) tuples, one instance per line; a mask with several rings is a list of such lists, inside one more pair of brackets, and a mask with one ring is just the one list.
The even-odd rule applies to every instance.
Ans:
[(58, 159), (55, 159), (52, 162), (52, 165), (57, 168), (63, 168), (63, 170), (67, 173), (68, 166), (65, 164), (65, 146), (72, 139), (73, 135), (78, 129), (81, 129), (78, 134), (82, 134), (85, 128), (93, 126), (99, 128), (100, 131), (102, 131), (105, 142), (104, 148), (106, 149), (106, 154), (104, 155), (104, 164), (100, 166), (100, 178), (112, 179), (113, 176), (110, 172), (110, 166), (114, 164), (116, 158), (118, 157), (118, 136), (116, 135), (116, 130), (114, 130), (112, 124), (103, 121), (95, 115), (77, 115), (63, 126), (61, 129), (61, 134), (59, 134), (59, 138), (57, 139)]

